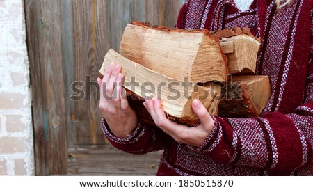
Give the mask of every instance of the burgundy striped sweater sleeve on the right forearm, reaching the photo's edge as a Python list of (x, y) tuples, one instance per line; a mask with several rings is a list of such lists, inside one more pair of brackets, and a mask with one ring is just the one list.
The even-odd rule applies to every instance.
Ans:
[(217, 163), (290, 173), (312, 162), (313, 102), (287, 115), (214, 120), (214, 132), (195, 151)]

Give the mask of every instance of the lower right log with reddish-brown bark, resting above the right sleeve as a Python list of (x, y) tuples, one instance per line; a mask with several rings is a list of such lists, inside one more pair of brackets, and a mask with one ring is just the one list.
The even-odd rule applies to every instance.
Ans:
[(268, 77), (232, 76), (230, 80), (222, 88), (218, 116), (227, 118), (259, 116), (271, 96)]

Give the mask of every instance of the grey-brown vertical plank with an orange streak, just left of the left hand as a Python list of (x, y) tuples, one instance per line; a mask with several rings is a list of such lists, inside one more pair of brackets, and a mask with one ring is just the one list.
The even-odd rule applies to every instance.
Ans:
[[(73, 83), (79, 82), (83, 97), (70, 100), (72, 145), (106, 144), (101, 130), (97, 77), (109, 50), (108, 1), (72, 0), (74, 65)], [(70, 68), (69, 68), (70, 69)], [(77, 87), (76, 87), (77, 88)]]

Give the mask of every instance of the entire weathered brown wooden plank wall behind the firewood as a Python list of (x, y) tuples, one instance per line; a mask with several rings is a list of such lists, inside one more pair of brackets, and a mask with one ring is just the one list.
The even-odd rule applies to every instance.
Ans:
[[(121, 164), (114, 165), (112, 159), (123, 153), (114, 152), (100, 127), (98, 70), (106, 52), (119, 49), (127, 23), (138, 20), (173, 27), (182, 3), (24, 0), (37, 175), (95, 174), (95, 168), (102, 175), (127, 175), (129, 170), (123, 170)], [(142, 164), (135, 167), (138, 171), (145, 168), (142, 175), (153, 175), (159, 155), (122, 157), (125, 166), (127, 157), (129, 161), (153, 166), (152, 170)], [(112, 160), (111, 167), (98, 166), (101, 157)]]

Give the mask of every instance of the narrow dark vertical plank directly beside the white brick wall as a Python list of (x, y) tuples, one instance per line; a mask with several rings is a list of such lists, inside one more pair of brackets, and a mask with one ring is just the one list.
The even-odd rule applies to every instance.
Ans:
[[(29, 68), (32, 86), (42, 86), (40, 79), (40, 4), (35, 0), (25, 0), (25, 19), (27, 32), (27, 45), (29, 47)], [(33, 134), (35, 151), (35, 174), (47, 175), (45, 152), (46, 138), (43, 128), (42, 111), (42, 88), (32, 89), (32, 111), (33, 111)]]

